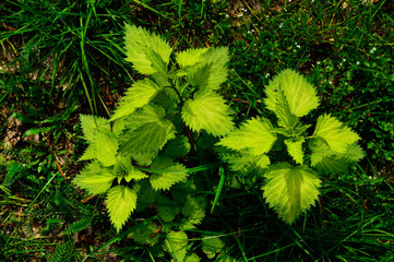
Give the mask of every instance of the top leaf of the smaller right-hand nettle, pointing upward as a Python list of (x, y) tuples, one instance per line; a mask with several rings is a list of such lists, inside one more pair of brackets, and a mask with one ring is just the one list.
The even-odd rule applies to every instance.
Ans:
[(319, 106), (313, 85), (294, 70), (282, 71), (265, 88), (265, 103), (270, 110), (277, 110), (279, 91), (285, 95), (290, 112), (296, 117), (303, 117)]

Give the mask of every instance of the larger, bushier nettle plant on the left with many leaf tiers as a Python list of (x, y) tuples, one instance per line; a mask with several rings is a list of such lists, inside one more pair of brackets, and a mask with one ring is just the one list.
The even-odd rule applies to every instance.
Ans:
[[(88, 142), (81, 160), (91, 163), (73, 182), (89, 194), (106, 194), (117, 231), (133, 211), (154, 212), (157, 219), (144, 218), (129, 236), (158, 254), (199, 261), (188, 253), (184, 229), (195, 228), (207, 206), (202, 178), (193, 175), (217, 169), (205, 154), (235, 128), (232, 110), (218, 94), (228, 49), (188, 49), (171, 57), (166, 40), (133, 25), (126, 25), (124, 44), (127, 61), (146, 78), (132, 84), (110, 119), (80, 117)], [(211, 258), (225, 251), (224, 242), (212, 238), (202, 249)]]

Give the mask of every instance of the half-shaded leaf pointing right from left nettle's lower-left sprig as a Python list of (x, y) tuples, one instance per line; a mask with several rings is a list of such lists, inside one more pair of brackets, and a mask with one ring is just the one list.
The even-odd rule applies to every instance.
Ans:
[(157, 157), (152, 163), (151, 169), (155, 170), (150, 178), (155, 190), (168, 190), (172, 184), (183, 181), (188, 177), (183, 165), (165, 157)]

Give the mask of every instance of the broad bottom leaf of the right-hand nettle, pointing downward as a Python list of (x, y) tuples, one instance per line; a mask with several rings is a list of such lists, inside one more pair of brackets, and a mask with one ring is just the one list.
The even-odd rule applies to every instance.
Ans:
[(268, 168), (265, 177), (267, 183), (262, 187), (263, 195), (287, 224), (292, 224), (319, 199), (321, 181), (308, 167), (277, 164)]

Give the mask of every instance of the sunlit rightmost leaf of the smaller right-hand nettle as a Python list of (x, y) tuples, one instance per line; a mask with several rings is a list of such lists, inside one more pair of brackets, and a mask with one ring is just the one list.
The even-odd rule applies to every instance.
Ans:
[(330, 115), (318, 118), (313, 135), (322, 138), (332, 151), (344, 153), (346, 148), (360, 140), (360, 136)]

